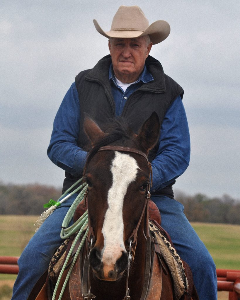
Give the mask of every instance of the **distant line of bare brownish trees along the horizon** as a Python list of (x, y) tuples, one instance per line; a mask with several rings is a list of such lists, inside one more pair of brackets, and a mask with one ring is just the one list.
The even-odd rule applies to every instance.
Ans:
[[(40, 215), (43, 204), (61, 196), (61, 188), (40, 184), (3, 184), (0, 182), (0, 214)], [(188, 220), (208, 223), (240, 224), (240, 201), (228, 195), (209, 198), (189, 196), (177, 191), (175, 199), (184, 205)]]

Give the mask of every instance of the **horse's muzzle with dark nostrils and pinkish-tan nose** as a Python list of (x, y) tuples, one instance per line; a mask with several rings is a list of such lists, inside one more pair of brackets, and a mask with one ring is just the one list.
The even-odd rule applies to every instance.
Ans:
[(89, 264), (93, 274), (100, 280), (116, 281), (128, 267), (128, 254), (121, 250), (116, 259), (112, 253), (101, 253), (97, 247), (93, 247), (89, 254)]

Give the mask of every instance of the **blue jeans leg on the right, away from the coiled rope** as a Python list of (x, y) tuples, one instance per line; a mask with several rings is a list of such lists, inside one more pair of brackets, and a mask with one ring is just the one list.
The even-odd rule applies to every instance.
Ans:
[(166, 196), (151, 196), (162, 217), (162, 227), (170, 234), (179, 256), (193, 272), (199, 300), (217, 300), (217, 275), (214, 261), (188, 222), (184, 206)]

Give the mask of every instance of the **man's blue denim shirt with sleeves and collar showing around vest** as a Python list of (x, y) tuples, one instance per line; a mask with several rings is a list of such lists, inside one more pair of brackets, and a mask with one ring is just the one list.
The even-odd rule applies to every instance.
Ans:
[[(150, 75), (150, 76), (149, 76)], [(120, 115), (125, 104), (124, 97), (144, 82), (150, 81), (151, 74), (145, 69), (139, 81), (127, 88), (125, 93), (114, 83), (112, 92), (116, 101), (116, 114)], [(51, 161), (63, 170), (78, 176), (82, 174), (87, 152), (77, 146), (79, 134), (79, 98), (75, 82), (67, 91), (53, 123), (53, 131), (47, 155)], [(168, 108), (161, 125), (159, 149), (152, 161), (153, 187), (159, 190), (179, 177), (188, 167), (190, 160), (190, 137), (186, 113), (179, 96)]]

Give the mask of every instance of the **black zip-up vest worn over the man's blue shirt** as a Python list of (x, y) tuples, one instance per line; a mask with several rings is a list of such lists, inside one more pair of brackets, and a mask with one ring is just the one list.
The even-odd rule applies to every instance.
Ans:
[[(110, 64), (111, 56), (107, 55), (98, 61), (93, 69), (84, 70), (75, 78), (80, 103), (78, 146), (85, 151), (88, 151), (89, 140), (83, 129), (83, 113), (86, 112), (92, 116), (100, 128), (109, 119), (115, 117), (115, 102), (109, 80)], [(138, 133), (143, 122), (149, 118), (153, 111), (158, 114), (160, 124), (162, 124), (168, 107), (179, 95), (182, 98), (184, 93), (180, 85), (164, 74), (158, 60), (149, 55), (145, 64), (154, 80), (144, 83), (134, 91), (127, 99), (122, 112), (122, 116), (135, 133)], [(149, 153), (149, 161), (155, 158), (158, 146), (159, 144)], [(65, 175), (63, 191), (67, 190), (78, 179), (68, 172)], [(170, 194), (172, 192), (167, 193), (168, 196)]]

